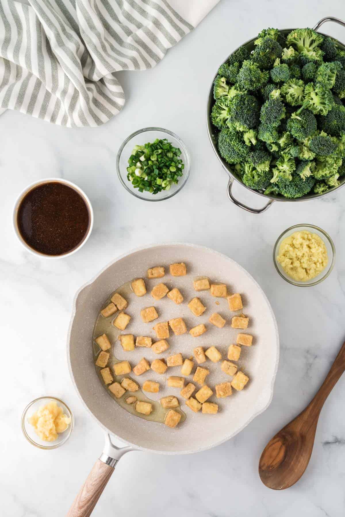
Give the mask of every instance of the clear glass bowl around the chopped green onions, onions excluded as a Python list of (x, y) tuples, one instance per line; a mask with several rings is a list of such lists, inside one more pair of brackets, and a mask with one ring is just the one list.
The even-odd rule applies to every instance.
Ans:
[[(139, 192), (139, 189), (134, 189), (131, 182), (127, 179), (128, 158), (132, 154), (132, 150), (135, 145), (144, 145), (147, 142), (154, 142), (156, 138), (166, 138), (169, 142), (172, 143), (174, 147), (179, 147), (181, 149), (180, 158), (183, 160), (185, 165), (183, 175), (181, 178), (179, 178), (178, 184), (173, 184), (169, 190), (162, 190), (157, 194), (151, 194), (150, 192), (146, 191)], [(119, 180), (130, 194), (145, 201), (163, 201), (164, 199), (169, 199), (170, 197), (177, 194), (177, 192), (179, 192), (185, 185), (190, 172), (190, 157), (187, 147), (181, 138), (177, 136), (177, 134), (163, 128), (143, 128), (138, 129), (138, 131), (130, 134), (118, 149), (116, 157), (116, 170)]]

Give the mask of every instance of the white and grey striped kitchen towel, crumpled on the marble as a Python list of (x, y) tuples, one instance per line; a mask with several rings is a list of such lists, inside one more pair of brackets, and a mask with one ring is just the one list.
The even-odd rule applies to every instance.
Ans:
[(219, 0), (0, 0), (0, 112), (100, 126), (124, 103), (119, 70), (146, 70)]

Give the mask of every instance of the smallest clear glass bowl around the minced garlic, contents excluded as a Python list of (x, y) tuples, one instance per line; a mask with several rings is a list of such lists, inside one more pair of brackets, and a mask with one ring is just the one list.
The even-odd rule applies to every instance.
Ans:
[[(51, 402), (52, 400), (55, 400), (57, 402), (57, 405), (63, 408), (65, 415), (67, 415), (71, 419), (71, 423), (69, 424), (66, 431), (64, 431), (63, 433), (58, 433), (58, 437), (54, 442), (43, 442), (43, 440), (41, 440), (39, 436), (37, 436), (37, 434), (35, 433), (33, 425), (31, 425), (31, 423), (28, 422), (28, 418), (31, 417), (40, 406), (46, 405), (48, 404), (48, 402)], [(38, 399), (35, 399), (32, 402), (30, 402), (25, 407), (22, 414), (21, 424), (25, 438), (32, 445), (38, 447), (39, 449), (56, 449), (68, 440), (74, 427), (74, 417), (70, 408), (61, 399), (57, 399), (56, 397), (39, 397)]]

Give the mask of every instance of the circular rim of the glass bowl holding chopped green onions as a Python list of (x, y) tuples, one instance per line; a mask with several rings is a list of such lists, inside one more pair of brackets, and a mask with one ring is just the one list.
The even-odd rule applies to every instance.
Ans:
[[(125, 147), (125, 145), (134, 137), (134, 136), (137, 136), (138, 134), (141, 134), (141, 133), (146, 133), (147, 131), (161, 131), (162, 133), (167, 133), (169, 134), (170, 136), (173, 136), (173, 138), (175, 138), (177, 140), (177, 142), (181, 145), (181, 147), (183, 147), (183, 150), (184, 150), (184, 153), (186, 155), (186, 162), (185, 163), (185, 169), (184, 169), (184, 175), (182, 177), (182, 181), (179, 185), (177, 185), (177, 188), (175, 190), (173, 190), (170, 194), (167, 194), (166, 196), (164, 197), (159, 197), (159, 198), (155, 198), (154, 196), (153, 199), (149, 199), (147, 197), (143, 197), (139, 194), (137, 194), (135, 191), (132, 191), (125, 183), (125, 181), (123, 180), (123, 177), (121, 175), (121, 171), (120, 171), (120, 158), (121, 158), (121, 155), (122, 155), (122, 151)], [(127, 192), (129, 192), (130, 194), (132, 194), (133, 196), (137, 197), (138, 199), (141, 199), (143, 201), (153, 201), (153, 202), (157, 202), (157, 201), (164, 201), (164, 200), (167, 200), (167, 199), (170, 199), (171, 197), (173, 197), (175, 194), (177, 194), (177, 192), (179, 192), (183, 187), (184, 185), (186, 184), (187, 182), (187, 179), (189, 177), (189, 173), (190, 173), (190, 155), (189, 155), (189, 152), (188, 152), (188, 149), (186, 147), (186, 144), (184, 143), (184, 141), (179, 138), (179, 136), (177, 136), (176, 133), (174, 133), (173, 131), (169, 131), (169, 129), (164, 129), (164, 128), (160, 128), (160, 127), (147, 127), (147, 128), (142, 128), (142, 129), (138, 129), (137, 131), (134, 131), (133, 133), (131, 133), (129, 136), (127, 136), (126, 140), (121, 144), (121, 146), (119, 147), (118, 151), (117, 151), (117, 156), (116, 156), (116, 172), (117, 172), (117, 176), (118, 176), (118, 179), (121, 181), (121, 184), (123, 185), (123, 187), (125, 187), (125, 189), (127, 190)], [(169, 191), (168, 191), (169, 192)]]

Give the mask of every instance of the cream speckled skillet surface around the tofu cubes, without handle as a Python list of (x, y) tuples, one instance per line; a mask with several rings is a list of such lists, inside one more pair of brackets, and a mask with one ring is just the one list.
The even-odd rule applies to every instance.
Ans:
[[(226, 399), (216, 399), (213, 396), (210, 400), (219, 403), (220, 410), (217, 415), (203, 415), (201, 412), (192, 413), (184, 404), (184, 399), (179, 396), (179, 389), (171, 388), (170, 394), (175, 394), (179, 399), (187, 418), (176, 429), (170, 429), (164, 424), (132, 416), (107, 394), (94, 367), (92, 332), (100, 307), (116, 287), (135, 277), (146, 278), (147, 268), (163, 265), (166, 267), (166, 277), (155, 281), (147, 281), (147, 294), (141, 302), (142, 307), (154, 305), (149, 290), (159, 282), (167, 283), (170, 288), (174, 286), (174, 277), (169, 275), (169, 264), (174, 262), (185, 262), (189, 273), (187, 277), (179, 278), (178, 286), (182, 285), (181, 281), (183, 280), (181, 279), (183, 278), (186, 283), (191, 284), (193, 277), (205, 275), (214, 282), (226, 283), (230, 293), (243, 293), (243, 312), (250, 317), (251, 322), (247, 332), (254, 335), (255, 341), (251, 347), (243, 347), (243, 349), (246, 348), (243, 352), (244, 359), (242, 363), (239, 361), (241, 366), (243, 364), (243, 370), (248, 374), (250, 382), (243, 391), (236, 392), (233, 390), (232, 396)], [(222, 353), (222, 358), (226, 359), (228, 347), (231, 343), (236, 342), (235, 337), (238, 332), (238, 330), (231, 328), (233, 313), (227, 308), (227, 300), (213, 298), (209, 295), (209, 292), (194, 293), (194, 296), (200, 296), (205, 300), (205, 305), (212, 312), (219, 311), (227, 318), (227, 324), (223, 329), (213, 327), (207, 321), (209, 316), (207, 313), (207, 316), (201, 316), (199, 318), (200, 322), (198, 321), (198, 323), (205, 323), (208, 328), (203, 336), (192, 338), (189, 334), (184, 334), (183, 336), (172, 337), (171, 333), (171, 338), (168, 340), (170, 348), (163, 356), (181, 352), (183, 357), (186, 358), (193, 355), (192, 351), (196, 346), (201, 345), (206, 348), (215, 345)], [(184, 303), (176, 306), (176, 308), (181, 308), (178, 309), (179, 315), (185, 318), (189, 329), (191, 313), (187, 308), (188, 301), (189, 299), (185, 298)], [(215, 305), (216, 301), (221, 301), (221, 305)], [(172, 306), (175, 304), (170, 300), (166, 300), (166, 302), (167, 309), (164, 309), (166, 312), (162, 313), (156, 322), (169, 319), (169, 304), (171, 303)], [(174, 308), (174, 310), (176, 309)], [(137, 309), (135, 311), (133, 308), (131, 309), (131, 302), (129, 302), (126, 312), (136, 319), (140, 318)], [(145, 325), (150, 331), (147, 335), (154, 337), (154, 334), (152, 334), (153, 324)], [(130, 327), (126, 329), (127, 331), (131, 332)], [(118, 347), (119, 345), (115, 346)], [(149, 361), (160, 357), (149, 349), (146, 351), (147, 349), (142, 352), (141, 356), (146, 357)], [(133, 367), (136, 364), (136, 359), (132, 360), (128, 357), (129, 354), (127, 359)], [(153, 357), (154, 355), (155, 357)], [(70, 373), (74, 385), (89, 412), (104, 430), (116, 435), (124, 442), (161, 453), (189, 453), (204, 450), (224, 442), (241, 431), (252, 418), (261, 413), (271, 402), (278, 357), (279, 338), (275, 317), (260, 286), (247, 271), (229, 257), (194, 245), (155, 245), (119, 257), (103, 269), (91, 283), (79, 291), (69, 330), (68, 360)], [(220, 370), (220, 362), (210, 363), (211, 361), (207, 361), (201, 366), (210, 367), (210, 370), (212, 366)], [(141, 376), (142, 378), (133, 378), (142, 384), (146, 379), (150, 379), (148, 373)], [(168, 375), (179, 375), (179, 368), (171, 369)], [(212, 381), (212, 371), (209, 377), (208, 384), (213, 388), (215, 383)], [(221, 382), (231, 379), (225, 374), (223, 377)], [(189, 379), (191, 381), (191, 377)]]

